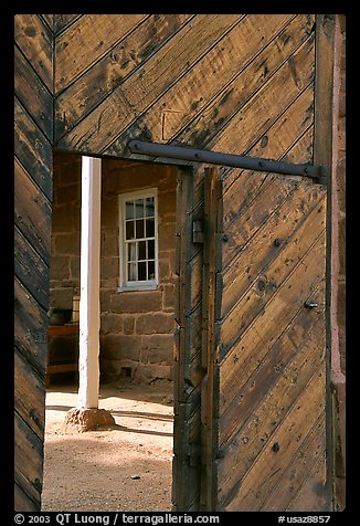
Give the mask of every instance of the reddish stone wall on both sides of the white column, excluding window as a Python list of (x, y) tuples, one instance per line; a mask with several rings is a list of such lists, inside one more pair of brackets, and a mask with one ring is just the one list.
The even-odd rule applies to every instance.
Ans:
[[(173, 166), (103, 159), (100, 240), (100, 380), (172, 378), (176, 175)], [(159, 286), (118, 292), (118, 194), (158, 189)], [(54, 159), (51, 307), (72, 308), (80, 287), (81, 158)]]

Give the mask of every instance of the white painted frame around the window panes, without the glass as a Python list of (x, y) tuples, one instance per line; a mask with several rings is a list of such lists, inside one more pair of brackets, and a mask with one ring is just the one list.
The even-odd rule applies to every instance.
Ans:
[[(155, 280), (131, 281), (126, 280), (126, 256), (125, 256), (125, 202), (129, 199), (145, 199), (147, 197), (155, 198)], [(126, 291), (149, 291), (157, 290), (159, 286), (159, 213), (158, 213), (158, 189), (146, 188), (144, 190), (135, 190), (131, 192), (120, 193), (118, 196), (119, 207), (119, 286), (118, 292)], [(147, 239), (147, 238), (145, 238)]]

